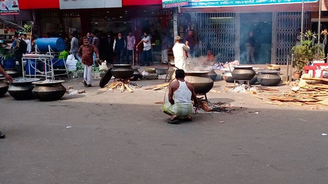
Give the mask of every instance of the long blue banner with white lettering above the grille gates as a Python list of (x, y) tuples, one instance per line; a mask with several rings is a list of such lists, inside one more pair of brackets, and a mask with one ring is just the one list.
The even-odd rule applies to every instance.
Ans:
[[(317, 1), (318, 0), (304, 0), (304, 3), (314, 3)], [(184, 8), (281, 5), (302, 2), (303, 0), (188, 0), (188, 5)]]

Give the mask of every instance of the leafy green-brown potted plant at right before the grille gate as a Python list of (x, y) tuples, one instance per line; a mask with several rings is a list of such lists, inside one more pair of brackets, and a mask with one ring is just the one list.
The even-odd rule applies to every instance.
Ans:
[(318, 34), (312, 33), (310, 30), (305, 33), (301, 33), (303, 39), (301, 45), (295, 45), (292, 47), (294, 54), (293, 68), (296, 69), (294, 77), (300, 78), (305, 66), (309, 65), (313, 60), (321, 60), (324, 58), (324, 52), (320, 45), (312, 45), (312, 39), (316, 39)]

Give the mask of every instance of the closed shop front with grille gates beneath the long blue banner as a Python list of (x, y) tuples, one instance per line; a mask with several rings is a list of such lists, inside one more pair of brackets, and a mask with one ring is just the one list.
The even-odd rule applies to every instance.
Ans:
[[(198, 37), (198, 56), (211, 50), (217, 62), (236, 59), (241, 64), (252, 63), (251, 58), (247, 59), (246, 45), (252, 32), (255, 64), (286, 65), (290, 49), (295, 45), (297, 29), (301, 28), (300, 10), (301, 4), (287, 4), (181, 8), (181, 13), (190, 17), (187, 20)], [(318, 11), (318, 3), (306, 3), (304, 10), (303, 27), (308, 30), (311, 29), (310, 11)], [(185, 24), (179, 22), (180, 26)]]

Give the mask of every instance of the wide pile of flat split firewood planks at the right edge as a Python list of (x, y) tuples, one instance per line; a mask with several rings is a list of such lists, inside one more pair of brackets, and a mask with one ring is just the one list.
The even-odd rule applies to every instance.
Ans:
[(268, 99), (285, 105), (290, 103), (296, 105), (328, 105), (328, 79), (302, 78), (302, 80), (305, 83), (293, 87), (292, 92), (283, 93), (280, 96), (270, 96)]

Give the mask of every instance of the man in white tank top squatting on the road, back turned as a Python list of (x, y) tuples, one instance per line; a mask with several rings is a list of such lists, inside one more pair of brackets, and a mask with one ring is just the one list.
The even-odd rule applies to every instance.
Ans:
[(191, 121), (192, 101), (194, 106), (198, 106), (198, 99), (193, 86), (185, 81), (185, 72), (181, 69), (176, 70), (177, 81), (169, 85), (169, 94), (165, 98), (162, 110), (171, 116), (169, 124), (175, 124), (179, 119)]

